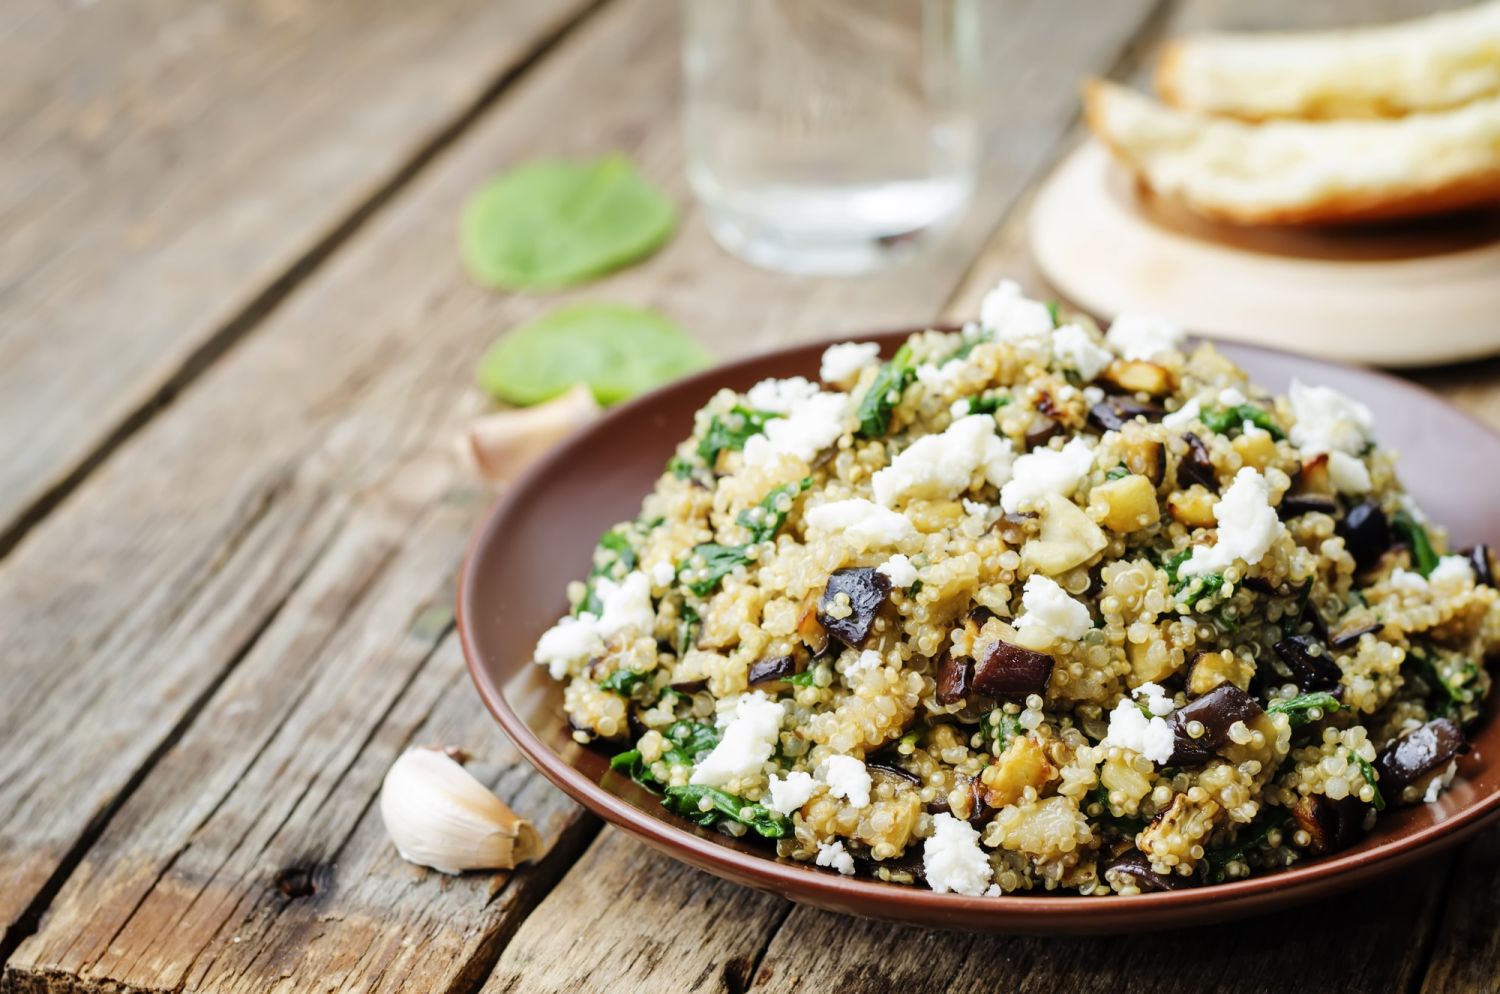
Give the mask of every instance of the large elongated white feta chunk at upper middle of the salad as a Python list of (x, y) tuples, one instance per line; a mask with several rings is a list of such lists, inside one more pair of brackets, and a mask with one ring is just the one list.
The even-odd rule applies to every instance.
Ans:
[(876, 471), (874, 499), (896, 507), (912, 498), (956, 498), (969, 489), (974, 474), (1000, 486), (1011, 474), (1011, 439), (994, 435), (994, 418), (972, 414), (940, 435), (926, 435)]

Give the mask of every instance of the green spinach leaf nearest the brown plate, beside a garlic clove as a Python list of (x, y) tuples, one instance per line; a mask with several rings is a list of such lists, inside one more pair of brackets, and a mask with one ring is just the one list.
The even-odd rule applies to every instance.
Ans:
[(514, 328), (478, 361), (478, 382), (506, 403), (550, 400), (585, 382), (616, 403), (712, 364), (675, 322), (621, 304), (568, 304)]

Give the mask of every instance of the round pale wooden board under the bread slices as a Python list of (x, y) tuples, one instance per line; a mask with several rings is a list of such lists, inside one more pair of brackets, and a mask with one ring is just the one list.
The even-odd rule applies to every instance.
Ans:
[(1137, 189), (1090, 139), (1038, 192), (1030, 249), (1053, 288), (1100, 319), (1160, 313), (1196, 333), (1378, 366), (1500, 352), (1500, 210), (1233, 228)]

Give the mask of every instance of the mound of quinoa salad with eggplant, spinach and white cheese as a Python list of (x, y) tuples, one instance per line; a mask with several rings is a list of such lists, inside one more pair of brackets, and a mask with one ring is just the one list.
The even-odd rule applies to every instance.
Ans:
[(722, 390), (536, 661), (573, 736), (768, 856), (938, 892), (1266, 874), (1436, 801), (1500, 646), (1328, 385), (1002, 283)]

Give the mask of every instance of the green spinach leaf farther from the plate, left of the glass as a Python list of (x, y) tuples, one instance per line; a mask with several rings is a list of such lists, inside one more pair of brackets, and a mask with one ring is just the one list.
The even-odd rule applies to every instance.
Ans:
[(459, 249), (480, 283), (554, 289), (644, 259), (674, 228), (676, 207), (626, 156), (530, 162), (470, 198)]

